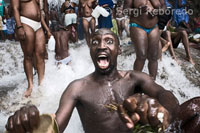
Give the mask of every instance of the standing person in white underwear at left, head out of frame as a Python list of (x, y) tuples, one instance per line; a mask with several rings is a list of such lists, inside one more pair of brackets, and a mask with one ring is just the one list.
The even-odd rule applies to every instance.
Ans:
[(39, 0), (11, 0), (16, 34), (24, 53), (24, 70), (28, 80), (25, 97), (31, 95), (33, 89), (33, 55), (36, 56), (38, 82), (41, 85), (45, 72), (45, 35), (42, 26), (51, 35), (40, 11)]

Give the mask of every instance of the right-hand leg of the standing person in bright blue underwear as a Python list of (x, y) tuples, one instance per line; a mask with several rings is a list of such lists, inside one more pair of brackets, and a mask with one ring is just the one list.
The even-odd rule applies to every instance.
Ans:
[(148, 35), (148, 55), (149, 60), (148, 69), (149, 75), (156, 79), (157, 69), (158, 69), (158, 53), (159, 53), (159, 40), (160, 32), (158, 27), (155, 27)]

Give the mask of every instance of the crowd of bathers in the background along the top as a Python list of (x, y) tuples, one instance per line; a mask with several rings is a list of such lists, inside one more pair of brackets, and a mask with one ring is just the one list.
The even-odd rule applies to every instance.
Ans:
[[(0, 40), (17, 40), (14, 34), (16, 23), (12, 7), (9, 3), (5, 5), (4, 0), (1, 0), (0, 3)], [(188, 61), (195, 64), (190, 53), (190, 45), (191, 42), (193, 44), (200, 43), (200, 37), (194, 36), (200, 33), (200, 13), (198, 10), (196, 11), (198, 4), (182, 0), (183, 6), (179, 7), (178, 0), (165, 0), (165, 5), (173, 12), (159, 15), (158, 23), (152, 28), (144, 28), (137, 23), (130, 23), (130, 16), (123, 12), (124, 0), (65, 0), (61, 5), (49, 3), (48, 12), (43, 12), (43, 14), (45, 14), (45, 18), (48, 18), (45, 20), (52, 35), (73, 25), (74, 31), (77, 33), (76, 41), (85, 39), (88, 46), (91, 34), (100, 28), (111, 29), (123, 40), (130, 37), (130, 27), (143, 29), (149, 34), (158, 26), (161, 35), (159, 58), (161, 58), (162, 52), (169, 49), (172, 58), (177, 61), (174, 48), (177, 48), (182, 41)], [(185, 9), (188, 5), (194, 9), (193, 14), (187, 14)], [(176, 10), (181, 13), (177, 13)], [(26, 18), (22, 16), (21, 20), (24, 19)], [(70, 41), (70, 39), (67, 40)], [(197, 45), (197, 48), (200, 47)]]

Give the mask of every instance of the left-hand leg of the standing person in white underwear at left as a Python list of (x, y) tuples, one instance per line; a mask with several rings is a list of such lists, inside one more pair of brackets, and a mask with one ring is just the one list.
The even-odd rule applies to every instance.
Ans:
[(35, 32), (28, 25), (23, 24), (26, 38), (24, 41), (20, 41), (22, 51), (24, 53), (24, 71), (28, 80), (28, 88), (24, 93), (25, 97), (31, 95), (33, 89), (33, 51), (34, 51), (34, 39)]

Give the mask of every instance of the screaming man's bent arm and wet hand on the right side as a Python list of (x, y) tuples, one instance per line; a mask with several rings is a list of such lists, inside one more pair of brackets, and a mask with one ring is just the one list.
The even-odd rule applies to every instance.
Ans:
[(156, 84), (147, 74), (134, 71), (131, 78), (138, 89), (134, 92), (139, 93), (124, 100), (118, 108), (127, 127), (134, 128), (138, 121), (151, 126), (168, 127), (179, 111), (175, 96)]

